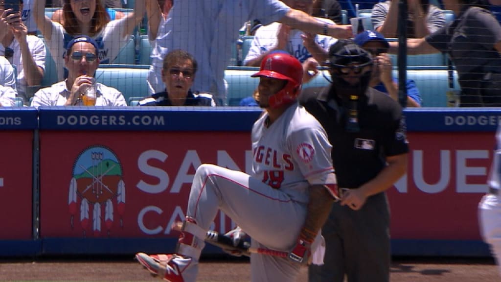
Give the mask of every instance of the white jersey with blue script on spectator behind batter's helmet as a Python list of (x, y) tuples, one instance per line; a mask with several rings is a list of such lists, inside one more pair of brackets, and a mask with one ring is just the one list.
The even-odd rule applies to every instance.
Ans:
[[(334, 25), (334, 22), (329, 19), (315, 19), (327, 24)], [(277, 46), (277, 34), (281, 26), (282, 24), (275, 22), (269, 24), (268, 26), (259, 28), (256, 32), (256, 35), (254, 36), (252, 45), (250, 45), (250, 49), (247, 53), (247, 56), (245, 56), (243, 63), (245, 64), (250, 60), (256, 59), (261, 54), (267, 53), (275, 48)], [(303, 39), (301, 38), (301, 35), (303, 34), (304, 33), (300, 30), (291, 30), (289, 34), (289, 43), (287, 44), (287, 48), (285, 50), (289, 52), (289, 54), (296, 57), (296, 59), (298, 59), (300, 62), (304, 62), (306, 59), (312, 56), (303, 45)], [(337, 39), (330, 36), (315, 36), (315, 42), (327, 52), (329, 51), (329, 47), (337, 41)]]

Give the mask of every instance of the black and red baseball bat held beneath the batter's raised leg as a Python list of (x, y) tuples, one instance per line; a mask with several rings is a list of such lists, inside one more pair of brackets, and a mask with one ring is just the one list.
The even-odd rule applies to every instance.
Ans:
[[(183, 226), (182, 222), (180, 221), (174, 222), (172, 224), (172, 229), (181, 231), (182, 226)], [(251, 253), (261, 253), (261, 254), (274, 255), (280, 257), (287, 257), (289, 255), (289, 253), (285, 251), (251, 247), (250, 244), (245, 241), (240, 241), (238, 245), (234, 246), (233, 239), (231, 239), (228, 236), (225, 236), (224, 234), (220, 234), (219, 232), (212, 230), (208, 230), (205, 233), (204, 240), (205, 242), (210, 243), (214, 246), (218, 246), (222, 249), (241, 251), (242, 254), (246, 256), (250, 256)]]

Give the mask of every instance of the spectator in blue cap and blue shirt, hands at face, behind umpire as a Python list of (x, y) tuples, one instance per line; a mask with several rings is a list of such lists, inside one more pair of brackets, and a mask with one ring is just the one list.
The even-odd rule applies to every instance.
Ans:
[[(377, 31), (364, 31), (359, 33), (353, 41), (372, 55), (374, 69), (369, 86), (388, 94), (398, 102), (398, 80), (393, 78), (393, 65), (388, 49), (390, 45), (386, 38)], [(421, 95), (414, 80), (407, 79), (407, 106), (420, 107)]]

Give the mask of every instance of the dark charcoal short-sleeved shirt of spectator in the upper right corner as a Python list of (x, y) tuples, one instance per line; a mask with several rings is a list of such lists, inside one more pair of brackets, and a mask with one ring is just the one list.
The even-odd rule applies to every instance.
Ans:
[(501, 57), (494, 48), (501, 41), (501, 26), (485, 9), (470, 7), (425, 39), (451, 56), (461, 87), (466, 80), (479, 79), (486, 72), (501, 73)]

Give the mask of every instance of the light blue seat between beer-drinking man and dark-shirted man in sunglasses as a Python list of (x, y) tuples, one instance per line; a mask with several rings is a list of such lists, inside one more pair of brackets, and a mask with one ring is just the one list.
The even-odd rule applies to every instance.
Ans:
[(148, 96), (149, 65), (100, 65), (96, 81), (118, 89), (129, 102), (131, 97)]

